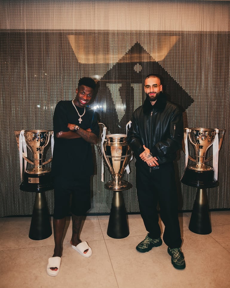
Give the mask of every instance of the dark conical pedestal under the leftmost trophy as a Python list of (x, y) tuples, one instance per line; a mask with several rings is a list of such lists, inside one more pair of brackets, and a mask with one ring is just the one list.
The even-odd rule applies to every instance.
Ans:
[(30, 223), (29, 238), (42, 240), (50, 237), (52, 228), (44, 192), (37, 192)]

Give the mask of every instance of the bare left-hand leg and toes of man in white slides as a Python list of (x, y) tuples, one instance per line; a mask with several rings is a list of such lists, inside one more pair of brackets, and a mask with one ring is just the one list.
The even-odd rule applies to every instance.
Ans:
[[(54, 235), (54, 253), (53, 257), (62, 257), (62, 236), (65, 229), (65, 218), (54, 219), (53, 218), (53, 235)], [(57, 270), (57, 267), (50, 267), (51, 270)]]

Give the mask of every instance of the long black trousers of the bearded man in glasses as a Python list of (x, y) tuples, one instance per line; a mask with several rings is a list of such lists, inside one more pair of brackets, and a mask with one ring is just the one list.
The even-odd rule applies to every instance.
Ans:
[(149, 236), (157, 239), (161, 235), (157, 212), (159, 202), (160, 217), (165, 225), (163, 240), (170, 248), (179, 248), (182, 240), (173, 163), (160, 164), (159, 169), (151, 169), (147, 164), (145, 168), (137, 165), (136, 185), (140, 213)]

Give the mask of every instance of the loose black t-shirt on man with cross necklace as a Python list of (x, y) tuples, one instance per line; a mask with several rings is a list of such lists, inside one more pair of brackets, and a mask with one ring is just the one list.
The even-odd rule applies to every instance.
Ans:
[[(84, 108), (77, 107), (80, 115)], [(96, 113), (85, 107), (85, 114), (79, 124), (79, 116), (73, 107), (72, 101), (60, 101), (57, 103), (53, 115), (54, 148), (52, 160), (52, 175), (69, 179), (81, 179), (93, 174), (93, 156), (91, 143), (83, 138), (63, 139), (56, 138), (57, 132), (69, 131), (68, 123), (76, 124), (82, 129), (91, 128), (92, 132), (99, 136), (99, 126)]]

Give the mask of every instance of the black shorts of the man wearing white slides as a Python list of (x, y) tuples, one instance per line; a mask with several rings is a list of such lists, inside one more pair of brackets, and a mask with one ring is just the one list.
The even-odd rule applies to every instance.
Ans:
[[(90, 176), (76, 180), (56, 177), (53, 179), (53, 184), (53, 218), (62, 219), (70, 213), (83, 216), (91, 208)], [(71, 207), (70, 195), (72, 195)]]

